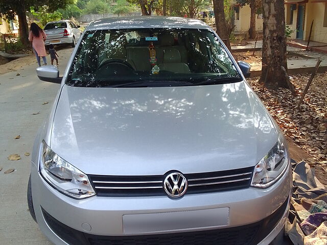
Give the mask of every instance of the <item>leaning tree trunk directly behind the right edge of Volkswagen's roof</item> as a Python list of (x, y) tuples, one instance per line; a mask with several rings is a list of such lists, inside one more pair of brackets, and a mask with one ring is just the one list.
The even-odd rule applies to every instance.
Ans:
[(219, 37), (224, 41), (228, 50), (230, 48), (229, 41), (229, 30), (227, 28), (225, 12), (224, 12), (224, 0), (214, 0), (214, 12), (215, 12), (215, 21), (216, 21), (216, 32)]

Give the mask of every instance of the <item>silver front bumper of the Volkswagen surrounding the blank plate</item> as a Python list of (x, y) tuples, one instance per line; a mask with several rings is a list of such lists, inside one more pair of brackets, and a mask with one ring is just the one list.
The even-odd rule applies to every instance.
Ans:
[[(85, 200), (74, 200), (59, 193), (46, 183), (39, 175), (35, 164), (32, 164), (31, 180), (37, 222), (42, 232), (55, 244), (191, 245), (216, 242), (216, 244), (226, 245), (264, 245), (269, 244), (285, 225), (289, 208), (291, 178), (290, 168), (286, 175), (267, 189), (247, 188), (235, 191), (190, 194), (179, 200), (172, 200), (165, 196), (92, 197)], [(229, 207), (230, 212), (228, 225), (221, 227), (221, 229), (201, 227), (183, 231), (174, 230), (169, 234), (167, 231), (137, 235), (124, 233), (122, 217), (125, 214), (163, 213), (222, 207)], [(262, 230), (262, 228), (265, 229)], [(69, 236), (66, 236), (66, 233), (78, 240), (71, 240)], [(170, 240), (172, 238), (169, 237), (174, 239)], [(168, 238), (169, 240), (167, 240)], [(202, 242), (204, 238), (207, 243)], [(117, 242), (115, 243), (115, 241)], [(132, 243), (128, 243), (129, 241)]]

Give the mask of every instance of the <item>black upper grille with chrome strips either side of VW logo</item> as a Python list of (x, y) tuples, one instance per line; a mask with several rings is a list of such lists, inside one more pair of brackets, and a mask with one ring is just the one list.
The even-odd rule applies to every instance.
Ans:
[[(188, 189), (185, 194), (235, 190), (250, 186), (253, 167), (209, 173), (185, 174)], [(166, 195), (165, 175), (100, 176), (89, 175), (97, 195), (102, 197), (139, 197)]]

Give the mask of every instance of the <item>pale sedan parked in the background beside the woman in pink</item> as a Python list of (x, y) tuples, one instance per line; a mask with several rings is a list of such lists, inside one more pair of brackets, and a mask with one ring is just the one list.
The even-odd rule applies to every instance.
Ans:
[(82, 34), (79, 28), (80, 26), (70, 20), (48, 22), (43, 29), (46, 34), (44, 44), (47, 46), (68, 43), (75, 47)]

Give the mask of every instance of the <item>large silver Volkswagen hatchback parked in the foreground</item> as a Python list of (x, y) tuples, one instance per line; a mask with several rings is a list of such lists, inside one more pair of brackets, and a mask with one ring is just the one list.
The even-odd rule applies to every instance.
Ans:
[(55, 244), (269, 244), (292, 171), (282, 132), (200, 20), (91, 22), (34, 142), (29, 210)]

